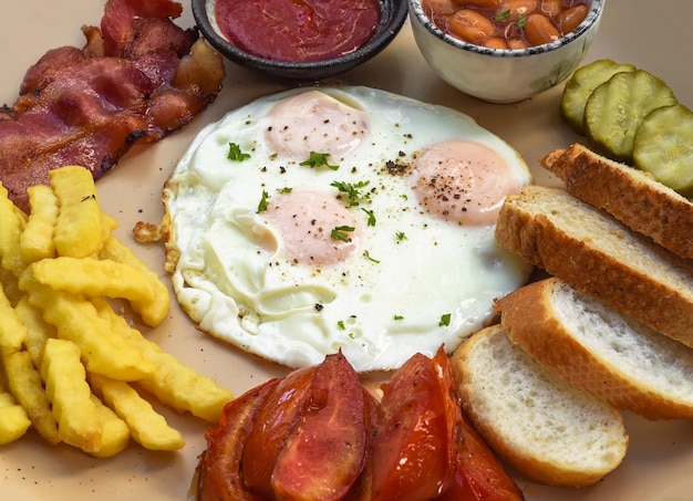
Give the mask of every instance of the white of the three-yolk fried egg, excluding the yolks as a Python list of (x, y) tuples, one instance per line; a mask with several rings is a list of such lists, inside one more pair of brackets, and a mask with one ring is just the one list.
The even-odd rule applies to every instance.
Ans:
[[(273, 106), (306, 92), (365, 118), (360, 144), (329, 157), (337, 169), (300, 166), (306, 158), (267, 144)], [(454, 349), (489, 323), (494, 300), (525, 283), (530, 268), (497, 246), (494, 225), (430, 216), (410, 177), (386, 173), (387, 161), (406, 165), (449, 139), (487, 146), (531, 182), (519, 154), (467, 115), (383, 91), (298, 88), (230, 112), (195, 138), (164, 189), (180, 305), (204, 332), (290, 367), (340, 348), (359, 372), (396, 368), (442, 344)], [(229, 143), (250, 158), (229, 160)], [(368, 181), (349, 208), (361, 221), (358, 249), (335, 264), (297, 263), (260, 201), (278, 203), (289, 190), (339, 197), (334, 181)]]

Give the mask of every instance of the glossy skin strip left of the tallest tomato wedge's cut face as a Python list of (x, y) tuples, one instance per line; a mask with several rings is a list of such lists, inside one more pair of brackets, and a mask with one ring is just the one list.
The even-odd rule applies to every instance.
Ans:
[(271, 484), (275, 463), (310, 396), (308, 389), (316, 370), (317, 366), (306, 367), (281, 378), (265, 397), (246, 440), (241, 459), (245, 483), (266, 498), (275, 498)]

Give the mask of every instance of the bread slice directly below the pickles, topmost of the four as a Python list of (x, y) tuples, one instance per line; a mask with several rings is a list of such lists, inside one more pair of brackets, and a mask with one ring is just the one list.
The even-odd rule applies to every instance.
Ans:
[(551, 152), (540, 164), (571, 195), (603, 209), (682, 258), (693, 258), (693, 203), (652, 176), (580, 144)]

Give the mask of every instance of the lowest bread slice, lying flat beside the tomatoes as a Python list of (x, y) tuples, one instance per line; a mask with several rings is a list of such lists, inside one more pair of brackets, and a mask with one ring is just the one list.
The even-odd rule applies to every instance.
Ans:
[(501, 326), (474, 334), (452, 362), (465, 411), (525, 476), (551, 486), (589, 486), (625, 456), (621, 413), (537, 364)]

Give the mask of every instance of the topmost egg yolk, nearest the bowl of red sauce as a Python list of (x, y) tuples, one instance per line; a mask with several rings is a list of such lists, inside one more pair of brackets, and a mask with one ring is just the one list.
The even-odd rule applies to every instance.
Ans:
[(282, 156), (303, 160), (311, 152), (342, 155), (368, 133), (365, 115), (324, 93), (311, 91), (283, 100), (270, 112), (265, 138)]

